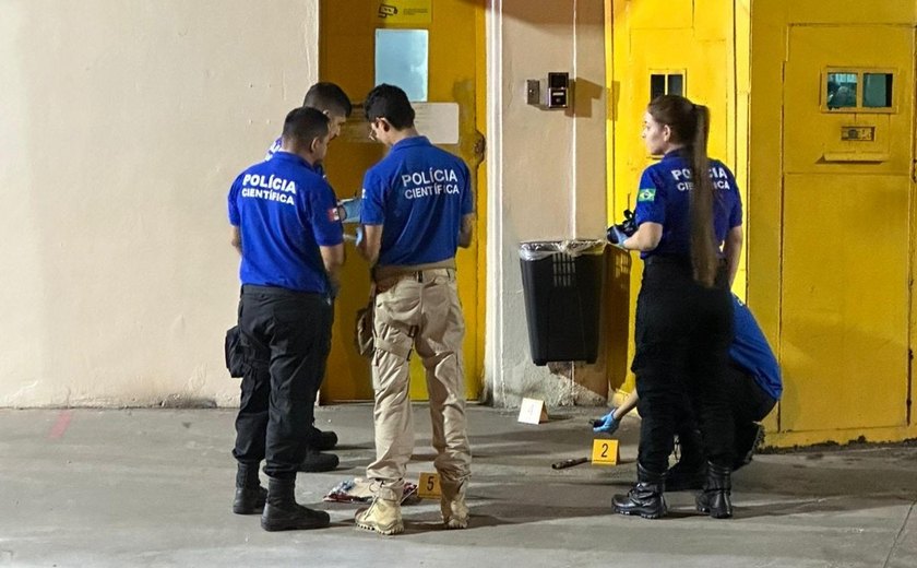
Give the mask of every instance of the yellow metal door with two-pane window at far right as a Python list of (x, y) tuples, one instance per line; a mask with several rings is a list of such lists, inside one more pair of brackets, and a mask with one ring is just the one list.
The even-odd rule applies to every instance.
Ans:
[(903, 426), (914, 31), (799, 25), (788, 38), (781, 430)]

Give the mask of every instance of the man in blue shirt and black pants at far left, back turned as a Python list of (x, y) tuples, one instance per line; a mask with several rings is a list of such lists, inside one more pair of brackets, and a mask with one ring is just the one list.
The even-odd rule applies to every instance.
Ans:
[[(325, 115), (291, 110), (281, 151), (239, 174), (228, 197), (233, 246), (241, 255), (239, 330), (252, 362), (236, 418), (233, 511), (263, 511), (266, 531), (329, 524), (327, 513), (294, 498), (331, 350), (331, 303), (344, 262), (337, 200), (318, 168), (329, 138)], [(259, 482), (262, 459), (267, 492)]]

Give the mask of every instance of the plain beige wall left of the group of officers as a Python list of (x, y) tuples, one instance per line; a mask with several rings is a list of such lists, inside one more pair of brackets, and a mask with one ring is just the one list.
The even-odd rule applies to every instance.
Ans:
[(3, 0), (0, 406), (236, 403), (226, 190), (317, 79), (317, 3)]

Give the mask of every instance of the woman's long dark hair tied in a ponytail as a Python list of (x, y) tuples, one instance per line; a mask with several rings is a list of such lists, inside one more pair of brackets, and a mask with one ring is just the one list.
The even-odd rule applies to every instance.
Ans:
[(694, 280), (713, 286), (719, 261), (713, 227), (713, 180), (707, 162), (710, 109), (677, 95), (662, 95), (650, 103), (647, 111), (656, 122), (671, 129), (675, 142), (684, 144), (690, 154), (691, 180), (691, 264)]

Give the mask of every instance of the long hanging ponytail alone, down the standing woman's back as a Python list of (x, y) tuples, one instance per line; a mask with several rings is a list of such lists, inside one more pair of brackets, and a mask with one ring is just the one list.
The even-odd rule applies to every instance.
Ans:
[(710, 133), (710, 110), (703, 105), (693, 105), (695, 117), (694, 135), (691, 141), (691, 264), (694, 280), (705, 286), (713, 286), (716, 279), (718, 255), (713, 228), (713, 180), (707, 162), (707, 134)]

